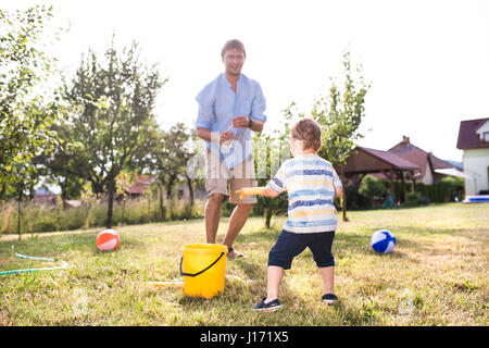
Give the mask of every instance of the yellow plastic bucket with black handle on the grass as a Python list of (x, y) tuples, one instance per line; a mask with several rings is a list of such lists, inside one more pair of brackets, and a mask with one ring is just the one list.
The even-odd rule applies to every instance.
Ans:
[(181, 248), (180, 275), (184, 295), (212, 298), (224, 293), (227, 247), (218, 244), (189, 244)]

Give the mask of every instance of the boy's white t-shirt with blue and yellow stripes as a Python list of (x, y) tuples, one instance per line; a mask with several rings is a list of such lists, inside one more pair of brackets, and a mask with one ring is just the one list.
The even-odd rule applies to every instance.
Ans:
[(284, 229), (291, 233), (319, 233), (336, 229), (333, 203), (341, 182), (331, 163), (311, 153), (285, 161), (267, 187), (277, 194), (287, 189), (289, 219)]

